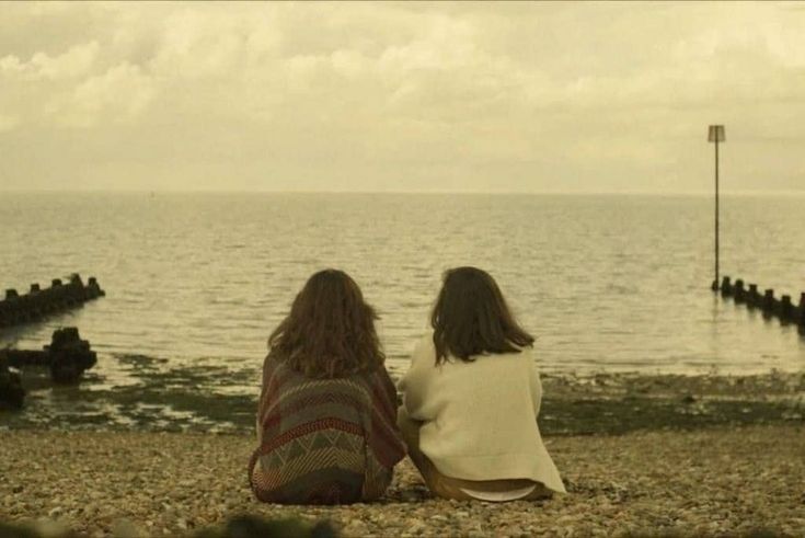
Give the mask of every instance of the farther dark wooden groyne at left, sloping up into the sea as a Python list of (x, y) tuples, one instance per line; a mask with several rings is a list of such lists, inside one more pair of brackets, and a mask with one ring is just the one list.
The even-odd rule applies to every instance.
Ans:
[(54, 278), (50, 287), (44, 289), (38, 284), (32, 284), (31, 290), (25, 295), (18, 294), (13, 288), (7, 289), (5, 298), (0, 300), (0, 328), (37, 321), (50, 313), (80, 307), (106, 294), (94, 276), (84, 285), (78, 273), (73, 273), (67, 284), (61, 278)]

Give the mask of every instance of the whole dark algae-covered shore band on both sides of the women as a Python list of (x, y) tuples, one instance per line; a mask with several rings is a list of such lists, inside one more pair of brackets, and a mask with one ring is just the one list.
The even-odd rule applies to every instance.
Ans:
[[(222, 365), (169, 368), (142, 355), (117, 360), (125, 382), (88, 371), (54, 387), (24, 371), (25, 407), (0, 413), (0, 427), (245, 433), (254, 428), (258, 371)], [(624, 434), (717, 425), (805, 424), (805, 374), (756, 376), (599, 374), (543, 376), (544, 435)], [(252, 388), (253, 387), (253, 388)]]

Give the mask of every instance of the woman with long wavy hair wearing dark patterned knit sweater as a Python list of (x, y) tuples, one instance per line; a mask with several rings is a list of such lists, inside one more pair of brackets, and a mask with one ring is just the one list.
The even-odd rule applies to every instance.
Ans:
[(405, 448), (376, 319), (346, 273), (325, 270), (272, 333), (249, 465), (260, 501), (366, 502), (391, 483)]

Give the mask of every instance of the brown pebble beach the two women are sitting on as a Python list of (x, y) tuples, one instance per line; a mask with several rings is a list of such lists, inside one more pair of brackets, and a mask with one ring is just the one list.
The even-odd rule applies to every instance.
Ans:
[(344, 536), (803, 536), (805, 426), (550, 436), (568, 493), (434, 499), (411, 462), (387, 496), (338, 507), (254, 501), (248, 435), (0, 432), (0, 520), (88, 536), (182, 536), (238, 514), (329, 519)]

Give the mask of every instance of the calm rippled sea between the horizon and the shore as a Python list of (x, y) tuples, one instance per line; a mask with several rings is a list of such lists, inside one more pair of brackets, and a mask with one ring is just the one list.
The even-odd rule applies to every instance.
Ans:
[[(255, 373), (307, 277), (352, 274), (403, 370), (444, 270), (478, 265), (538, 336), (543, 370), (805, 370), (793, 327), (714, 298), (712, 201), (649, 196), (2, 194), (0, 285), (80, 272), (107, 296), (0, 334), (74, 324), (112, 384), (128, 354)], [(722, 270), (798, 300), (805, 197), (723, 201)], [(127, 369), (128, 368), (128, 369)], [(228, 390), (253, 391), (252, 385)]]

